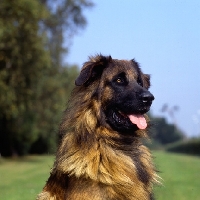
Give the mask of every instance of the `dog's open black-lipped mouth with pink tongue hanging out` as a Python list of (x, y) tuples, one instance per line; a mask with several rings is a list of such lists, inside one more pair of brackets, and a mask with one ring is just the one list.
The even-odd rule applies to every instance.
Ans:
[(124, 126), (128, 126), (130, 124), (136, 125), (138, 129), (146, 129), (147, 121), (144, 117), (144, 113), (146, 113), (149, 109), (145, 109), (145, 111), (140, 111), (138, 114), (125, 114), (122, 111), (114, 110), (112, 117), (118, 124), (123, 124)]

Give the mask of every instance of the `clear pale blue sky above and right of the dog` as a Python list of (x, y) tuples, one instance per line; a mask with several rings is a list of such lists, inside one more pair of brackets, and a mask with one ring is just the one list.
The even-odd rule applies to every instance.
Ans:
[(152, 114), (176, 123), (189, 137), (200, 136), (200, 1), (93, 2), (84, 11), (88, 24), (74, 36), (67, 62), (81, 67), (97, 53), (134, 58), (151, 75)]

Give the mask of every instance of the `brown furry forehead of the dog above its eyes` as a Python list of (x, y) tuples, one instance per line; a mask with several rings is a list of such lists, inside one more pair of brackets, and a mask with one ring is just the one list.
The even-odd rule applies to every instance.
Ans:
[(104, 74), (109, 78), (124, 72), (130, 78), (136, 78), (138, 75), (137, 65), (132, 60), (117, 60), (113, 59), (109, 66), (104, 71)]

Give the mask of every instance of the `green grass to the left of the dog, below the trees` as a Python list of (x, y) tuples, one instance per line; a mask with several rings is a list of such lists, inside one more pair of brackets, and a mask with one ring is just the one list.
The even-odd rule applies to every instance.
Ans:
[(36, 199), (49, 176), (53, 159), (53, 156), (0, 158), (0, 199)]

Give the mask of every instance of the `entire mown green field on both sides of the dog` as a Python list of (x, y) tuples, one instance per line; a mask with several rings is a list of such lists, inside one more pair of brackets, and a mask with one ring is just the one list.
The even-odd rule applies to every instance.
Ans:
[[(200, 157), (154, 152), (163, 178), (155, 188), (158, 200), (200, 199)], [(53, 164), (53, 156), (0, 158), (0, 199), (34, 200), (42, 190)]]

